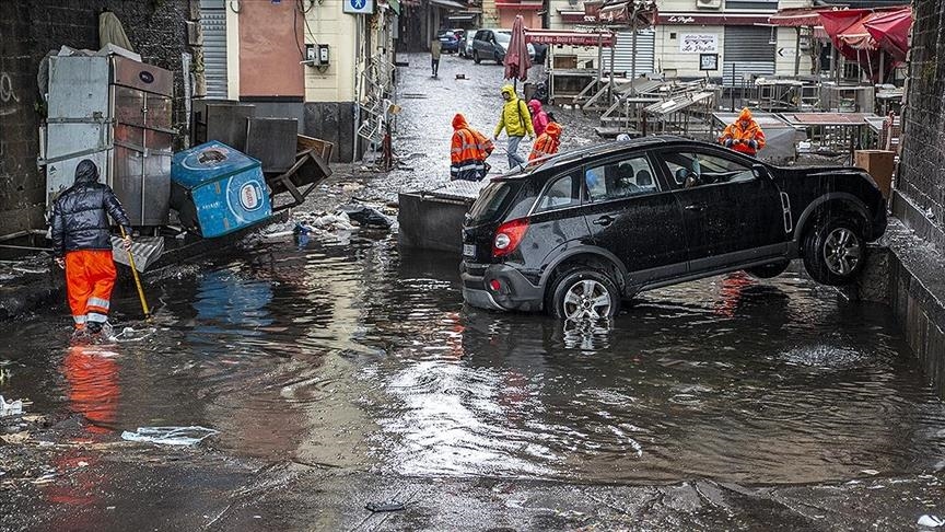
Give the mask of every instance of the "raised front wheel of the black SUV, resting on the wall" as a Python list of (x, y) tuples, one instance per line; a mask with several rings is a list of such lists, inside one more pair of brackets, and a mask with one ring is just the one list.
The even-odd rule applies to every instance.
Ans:
[(860, 224), (849, 218), (815, 221), (804, 236), (804, 267), (822, 285), (847, 285), (863, 269), (865, 240)]

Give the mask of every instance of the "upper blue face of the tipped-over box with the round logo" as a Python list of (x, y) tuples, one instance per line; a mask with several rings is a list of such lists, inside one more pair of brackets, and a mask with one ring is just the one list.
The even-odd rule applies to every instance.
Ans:
[(195, 188), (260, 165), (258, 160), (223, 142), (211, 140), (175, 153), (171, 160), (171, 180), (185, 188)]

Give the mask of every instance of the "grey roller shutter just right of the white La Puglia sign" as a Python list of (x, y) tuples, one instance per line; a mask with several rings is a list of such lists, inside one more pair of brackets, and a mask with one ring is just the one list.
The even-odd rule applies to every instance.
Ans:
[(742, 85), (751, 76), (774, 73), (777, 44), (770, 44), (771, 28), (765, 26), (725, 26), (722, 56), (722, 83)]

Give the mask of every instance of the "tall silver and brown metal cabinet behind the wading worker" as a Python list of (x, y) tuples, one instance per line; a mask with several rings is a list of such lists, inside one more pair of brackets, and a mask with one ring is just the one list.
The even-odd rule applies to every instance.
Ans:
[(172, 72), (119, 55), (50, 58), (47, 206), (92, 159), (132, 224), (167, 223), (173, 89)]

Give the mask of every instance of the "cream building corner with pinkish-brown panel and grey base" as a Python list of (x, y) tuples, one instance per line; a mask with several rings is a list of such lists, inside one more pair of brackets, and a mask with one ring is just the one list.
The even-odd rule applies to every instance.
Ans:
[(206, 97), (295, 117), (299, 132), (357, 160), (381, 140), (399, 2), (200, 0)]

